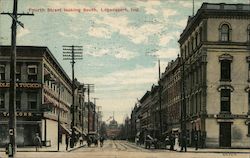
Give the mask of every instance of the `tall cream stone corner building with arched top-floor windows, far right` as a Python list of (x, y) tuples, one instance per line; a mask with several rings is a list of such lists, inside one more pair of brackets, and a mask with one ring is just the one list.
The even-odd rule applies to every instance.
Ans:
[(250, 147), (250, 6), (203, 3), (180, 36), (187, 136), (204, 147)]

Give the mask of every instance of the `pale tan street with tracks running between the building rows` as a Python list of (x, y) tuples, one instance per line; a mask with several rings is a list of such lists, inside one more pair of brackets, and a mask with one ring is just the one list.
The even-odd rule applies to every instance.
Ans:
[[(220, 152), (177, 152), (170, 150), (155, 150), (144, 149), (136, 146), (133, 143), (127, 141), (107, 140), (104, 142), (104, 146), (95, 147), (93, 144), (91, 147), (82, 147), (71, 152), (17, 152), (17, 158), (249, 158), (250, 154), (247, 152), (234, 153), (233, 150), (227, 150), (228, 153)], [(0, 158), (7, 157), (5, 153), (0, 152)]]

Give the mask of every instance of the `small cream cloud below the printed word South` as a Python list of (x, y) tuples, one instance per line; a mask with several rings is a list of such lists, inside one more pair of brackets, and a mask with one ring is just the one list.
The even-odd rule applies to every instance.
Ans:
[(91, 27), (88, 31), (88, 35), (98, 38), (110, 38), (112, 32), (104, 27)]

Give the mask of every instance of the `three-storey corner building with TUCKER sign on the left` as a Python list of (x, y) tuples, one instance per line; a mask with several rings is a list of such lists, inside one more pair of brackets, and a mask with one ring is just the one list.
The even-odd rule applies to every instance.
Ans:
[[(0, 47), (1, 146), (8, 143), (10, 51), (10, 46)], [(50, 50), (47, 47), (18, 46), (16, 79), (17, 145), (34, 145), (36, 133), (44, 146), (56, 147), (58, 141), (65, 143), (65, 135), (72, 132), (72, 81)], [(78, 115), (75, 115), (74, 128), (79, 134), (82, 130), (77, 129), (83, 122), (79, 116), (83, 113), (80, 105), (84, 99), (83, 93), (76, 91), (75, 94), (78, 96)]]

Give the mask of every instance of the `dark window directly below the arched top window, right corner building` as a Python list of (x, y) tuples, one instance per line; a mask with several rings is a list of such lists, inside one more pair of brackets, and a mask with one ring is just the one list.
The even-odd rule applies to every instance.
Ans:
[(221, 61), (221, 80), (222, 81), (231, 80), (231, 61), (229, 60)]

